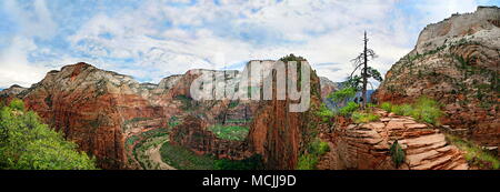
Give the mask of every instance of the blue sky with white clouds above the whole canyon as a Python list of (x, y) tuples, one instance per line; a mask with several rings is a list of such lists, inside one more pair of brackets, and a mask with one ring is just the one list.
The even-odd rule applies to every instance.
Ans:
[(141, 82), (303, 55), (343, 80), (368, 31), (386, 73), (428, 23), (500, 0), (1, 0), (0, 88), (80, 61)]

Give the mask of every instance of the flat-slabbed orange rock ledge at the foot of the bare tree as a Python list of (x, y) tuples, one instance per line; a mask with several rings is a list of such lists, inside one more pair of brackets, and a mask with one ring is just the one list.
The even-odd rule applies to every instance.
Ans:
[[(439, 129), (377, 110), (379, 121), (337, 127), (327, 137), (332, 149), (319, 168), (344, 170), (467, 170), (463, 152), (447, 142)], [(396, 168), (390, 148), (394, 141), (406, 153)]]

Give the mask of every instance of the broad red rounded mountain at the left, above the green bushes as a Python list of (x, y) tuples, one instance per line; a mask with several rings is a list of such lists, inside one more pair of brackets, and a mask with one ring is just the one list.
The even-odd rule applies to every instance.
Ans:
[(146, 91), (130, 77), (77, 63), (49, 72), (18, 97), (80, 149), (96, 155), (102, 168), (120, 169), (126, 160), (126, 122), (163, 113), (143, 97)]

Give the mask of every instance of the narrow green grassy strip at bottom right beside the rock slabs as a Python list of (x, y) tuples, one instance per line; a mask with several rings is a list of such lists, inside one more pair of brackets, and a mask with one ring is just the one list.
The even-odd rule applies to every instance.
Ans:
[(447, 134), (447, 141), (466, 151), (466, 160), (469, 164), (477, 165), (481, 169), (500, 169), (500, 160), (489, 152), (478, 146), (471, 141), (463, 140), (459, 137)]

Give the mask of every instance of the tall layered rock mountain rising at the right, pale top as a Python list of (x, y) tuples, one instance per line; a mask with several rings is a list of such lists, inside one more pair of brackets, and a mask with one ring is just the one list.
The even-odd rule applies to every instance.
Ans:
[(428, 26), (416, 48), (386, 74), (379, 102), (438, 100), (451, 132), (484, 146), (500, 145), (500, 9), (479, 7)]

